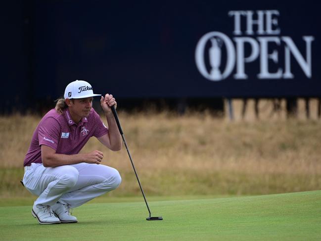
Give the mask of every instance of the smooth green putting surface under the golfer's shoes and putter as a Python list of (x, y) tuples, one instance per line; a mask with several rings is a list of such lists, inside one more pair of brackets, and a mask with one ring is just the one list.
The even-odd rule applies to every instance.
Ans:
[(0, 240), (320, 240), (321, 191), (261, 196), (89, 203), (76, 224), (40, 225), (31, 206), (0, 207)]

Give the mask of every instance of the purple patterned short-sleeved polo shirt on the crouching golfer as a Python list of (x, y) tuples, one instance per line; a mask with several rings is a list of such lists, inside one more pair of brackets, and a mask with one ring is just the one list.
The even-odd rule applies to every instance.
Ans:
[(23, 166), (42, 163), (41, 145), (51, 147), (58, 154), (78, 154), (92, 136), (99, 138), (107, 133), (108, 129), (93, 108), (78, 124), (71, 119), (68, 108), (62, 114), (51, 109), (34, 132)]

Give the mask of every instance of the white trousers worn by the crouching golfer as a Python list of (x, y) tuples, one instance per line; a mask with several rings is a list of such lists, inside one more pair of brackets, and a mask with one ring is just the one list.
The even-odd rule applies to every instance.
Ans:
[(121, 180), (116, 169), (89, 163), (58, 167), (32, 163), (23, 176), (25, 188), (39, 196), (34, 205), (51, 206), (59, 201), (73, 208), (116, 189)]

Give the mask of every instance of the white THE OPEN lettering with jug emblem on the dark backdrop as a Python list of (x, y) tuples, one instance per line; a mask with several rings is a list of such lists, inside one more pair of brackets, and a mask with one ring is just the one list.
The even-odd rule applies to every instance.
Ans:
[[(229, 11), (228, 15), (234, 20), (233, 38), (214, 31), (197, 43), (195, 62), (203, 77), (221, 81), (228, 78), (236, 66), (233, 78), (248, 79), (246, 63), (259, 61), (258, 79), (293, 79), (292, 58), (307, 78), (312, 77), (314, 37), (302, 36), (300, 41), (305, 43), (305, 49), (299, 49), (291, 37), (280, 36), (278, 10)], [(257, 31), (253, 30), (254, 26)], [(223, 59), (226, 59), (224, 63)]]

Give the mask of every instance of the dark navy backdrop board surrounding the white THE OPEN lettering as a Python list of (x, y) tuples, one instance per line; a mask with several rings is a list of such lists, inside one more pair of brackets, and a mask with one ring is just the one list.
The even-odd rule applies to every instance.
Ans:
[[(76, 79), (89, 81), (97, 93), (117, 97), (321, 96), (317, 3), (36, 0), (7, 5), (4, 14), (10, 24), (6, 31), (11, 34), (2, 40), (3, 52), (14, 60), (7, 62), (3, 74), (9, 88), (19, 87), (15, 93), (19, 101), (56, 98)], [(260, 57), (245, 64), (246, 80), (233, 78), (236, 65), (222, 81), (209, 81), (200, 74), (195, 48), (204, 34), (218, 31), (232, 39), (237, 36), (232, 33), (230, 10), (270, 9), (279, 11), (278, 37), (291, 37), (303, 57), (306, 46), (302, 36), (314, 36), (312, 78), (304, 74), (293, 55), (293, 79), (258, 79)], [(278, 64), (270, 59), (271, 72), (277, 67), (284, 69), (283, 47), (272, 45), (269, 50), (278, 50)], [(224, 49), (222, 62), (227, 58)], [(245, 55), (249, 54), (246, 46)]]

